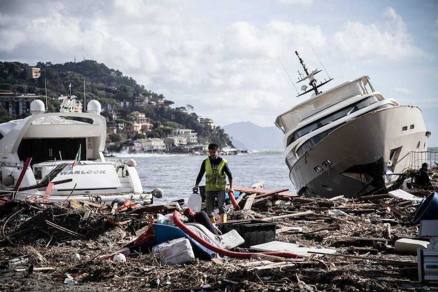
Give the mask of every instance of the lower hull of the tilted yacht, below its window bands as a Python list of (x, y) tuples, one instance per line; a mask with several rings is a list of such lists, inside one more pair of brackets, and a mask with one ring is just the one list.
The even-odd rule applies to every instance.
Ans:
[[(384, 192), (397, 182), (399, 176), (394, 174), (403, 173), (411, 165), (410, 152), (426, 149), (420, 109), (386, 108), (335, 129), (292, 165), (290, 178), (298, 193), (307, 197)], [(289, 153), (285, 154), (287, 157)]]

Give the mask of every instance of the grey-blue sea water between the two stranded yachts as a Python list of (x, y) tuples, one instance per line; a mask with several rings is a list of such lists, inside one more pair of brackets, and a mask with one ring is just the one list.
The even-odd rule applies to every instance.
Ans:
[[(250, 187), (253, 183), (264, 181), (269, 190), (289, 188), (295, 193), (289, 179), (289, 170), (284, 162), (282, 151), (254, 151), (239, 155), (220, 155), (228, 160), (233, 174), (233, 185)], [(205, 155), (187, 154), (149, 154), (119, 153), (117, 158), (134, 159), (137, 171), (147, 192), (160, 187), (164, 197), (154, 199), (154, 203), (164, 203), (184, 199), (187, 202), (195, 185)], [(228, 179), (227, 179), (228, 183)], [(205, 185), (205, 175), (200, 183)]]

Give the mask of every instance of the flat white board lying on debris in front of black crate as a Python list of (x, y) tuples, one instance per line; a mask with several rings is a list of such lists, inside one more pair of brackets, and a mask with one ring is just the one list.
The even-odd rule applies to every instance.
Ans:
[(301, 257), (310, 257), (311, 255), (322, 256), (321, 254), (313, 254), (313, 252), (323, 253), (323, 254), (334, 254), (336, 250), (329, 248), (318, 248), (318, 247), (300, 247), (296, 243), (281, 242), (281, 241), (271, 241), (262, 244), (252, 245), (250, 247), (252, 250), (261, 252), (277, 252), (277, 253), (292, 253)]

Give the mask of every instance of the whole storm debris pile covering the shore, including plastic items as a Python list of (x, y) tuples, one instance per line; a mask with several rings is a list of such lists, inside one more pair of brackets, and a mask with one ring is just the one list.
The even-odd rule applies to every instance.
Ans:
[[(190, 216), (182, 215), (183, 200), (141, 207), (125, 202), (107, 206), (73, 200), (9, 201), (0, 206), (0, 290), (438, 287), (419, 283), (417, 247), (427, 246), (432, 236), (420, 236), (413, 223), (429, 191), (322, 199), (300, 198), (286, 189), (234, 189), (240, 189), (236, 200), (240, 210), (230, 204), (228, 222), (217, 226), (219, 235), (196, 221), (190, 223)], [(176, 217), (185, 222), (184, 229), (229, 250), (230, 256), (219, 252), (220, 256), (188, 237), (177, 227)], [(248, 258), (232, 256), (248, 252), (252, 253)], [(267, 254), (275, 252), (298, 258)]]

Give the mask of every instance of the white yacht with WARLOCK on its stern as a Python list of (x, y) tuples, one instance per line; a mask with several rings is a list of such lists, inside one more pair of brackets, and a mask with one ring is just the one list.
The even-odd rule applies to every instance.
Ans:
[[(109, 160), (102, 153), (107, 126), (100, 103), (91, 100), (82, 112), (74, 95), (59, 99), (60, 112), (45, 112), (44, 103), (36, 99), (30, 105), (32, 115), (0, 124), (0, 193), (18, 190), (15, 198), (21, 199), (108, 203), (121, 198), (150, 204), (152, 194), (144, 192), (136, 162)], [(55, 184), (47, 191), (50, 182)]]

